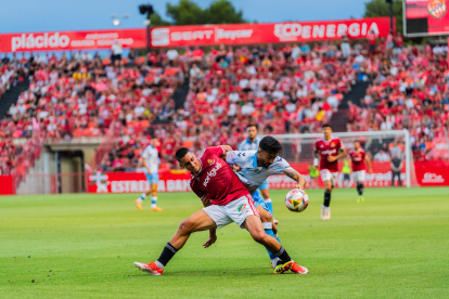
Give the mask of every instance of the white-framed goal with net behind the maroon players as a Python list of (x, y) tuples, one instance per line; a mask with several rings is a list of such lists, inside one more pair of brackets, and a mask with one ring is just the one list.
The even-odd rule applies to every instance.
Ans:
[[(279, 134), (272, 136), (279, 140), (283, 146), (281, 156), (294, 169), (306, 177), (307, 187), (324, 186), (321, 176), (313, 178), (317, 176), (317, 171), (312, 169), (315, 143), (318, 139), (323, 138), (322, 133)], [(371, 159), (373, 170), (370, 173), (367, 167), (365, 186), (392, 186), (393, 174), (395, 172), (399, 174), (399, 171), (392, 171), (392, 165), (398, 164), (398, 159), (400, 161), (400, 174), (395, 176), (394, 186), (401, 185), (410, 187), (419, 185), (412, 161), (409, 131), (335, 132), (332, 133), (332, 136), (339, 138), (348, 152), (354, 148), (354, 142), (356, 140), (360, 142), (361, 147)], [(338, 160), (338, 176), (335, 181), (335, 187), (350, 187), (356, 185), (354, 174), (344, 173), (344, 166), (345, 161), (342, 158)], [(398, 180), (398, 177), (400, 177), (400, 180)], [(268, 180), (270, 186), (274, 188), (293, 187), (292, 180), (285, 176), (270, 177)]]

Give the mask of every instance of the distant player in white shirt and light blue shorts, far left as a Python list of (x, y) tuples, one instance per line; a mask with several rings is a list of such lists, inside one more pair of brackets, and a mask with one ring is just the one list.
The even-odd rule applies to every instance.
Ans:
[(142, 193), (142, 195), (136, 199), (136, 206), (139, 210), (142, 210), (142, 202), (151, 194), (151, 210), (162, 211), (163, 209), (156, 206), (157, 203), (157, 183), (159, 182), (159, 153), (156, 148), (157, 140), (152, 139), (151, 144), (143, 150), (141, 157), (142, 164), (145, 168), (146, 180), (150, 183), (149, 191)]

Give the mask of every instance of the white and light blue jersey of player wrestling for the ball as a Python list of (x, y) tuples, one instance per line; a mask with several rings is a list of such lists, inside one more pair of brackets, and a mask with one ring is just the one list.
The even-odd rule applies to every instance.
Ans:
[(251, 186), (251, 191), (257, 190), (268, 177), (283, 174), (286, 169), (293, 169), (285, 159), (279, 156), (275, 157), (274, 162), (268, 168), (257, 166), (257, 151), (228, 152), (226, 154), (226, 161), (242, 168), (241, 171), (235, 173), (243, 183)]

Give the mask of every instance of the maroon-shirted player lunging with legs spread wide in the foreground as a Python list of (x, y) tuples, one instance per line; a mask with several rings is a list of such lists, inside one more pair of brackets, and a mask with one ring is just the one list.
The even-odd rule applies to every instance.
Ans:
[[(298, 265), (290, 258), (281, 244), (265, 233), (259, 212), (254, 206), (249, 192), (232, 167), (226, 162), (226, 154), (231, 151), (232, 147), (229, 145), (207, 147), (200, 157), (185, 147), (176, 152), (176, 158), (181, 167), (192, 174), (190, 186), (203, 202), (204, 209), (181, 222), (156, 262), (134, 262), (137, 268), (152, 275), (162, 275), (164, 268), (184, 246), (192, 233), (208, 230), (209, 238), (203, 244), (207, 248), (217, 240), (217, 229), (235, 222), (240, 227), (246, 229), (255, 242), (264, 245), (280, 259), (274, 266), (274, 273), (288, 270), (300, 274), (308, 272), (303, 266), (299, 266), (303, 269), (300, 272), (296, 272), (295, 269), (298, 269)], [(270, 160), (271, 164), (274, 158), (275, 155)]]

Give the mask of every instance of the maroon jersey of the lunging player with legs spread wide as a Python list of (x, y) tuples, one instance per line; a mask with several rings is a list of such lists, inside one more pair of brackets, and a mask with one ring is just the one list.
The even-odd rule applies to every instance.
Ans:
[(200, 197), (207, 195), (213, 205), (226, 206), (242, 196), (251, 196), (239, 177), (220, 156), (224, 153), (221, 146), (207, 147), (198, 157), (200, 172), (192, 173), (190, 187)]

